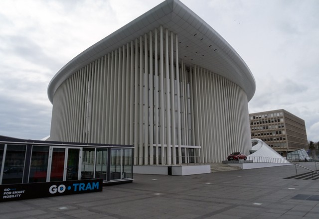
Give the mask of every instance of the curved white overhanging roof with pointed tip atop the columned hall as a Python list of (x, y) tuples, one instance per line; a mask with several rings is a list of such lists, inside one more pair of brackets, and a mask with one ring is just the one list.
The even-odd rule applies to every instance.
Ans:
[(166, 0), (67, 63), (48, 86), (50, 102), (63, 81), (77, 70), (160, 25), (178, 35), (178, 56), (186, 65), (196, 64), (233, 81), (246, 92), (248, 101), (252, 99), (255, 79), (238, 53), (179, 0)]

